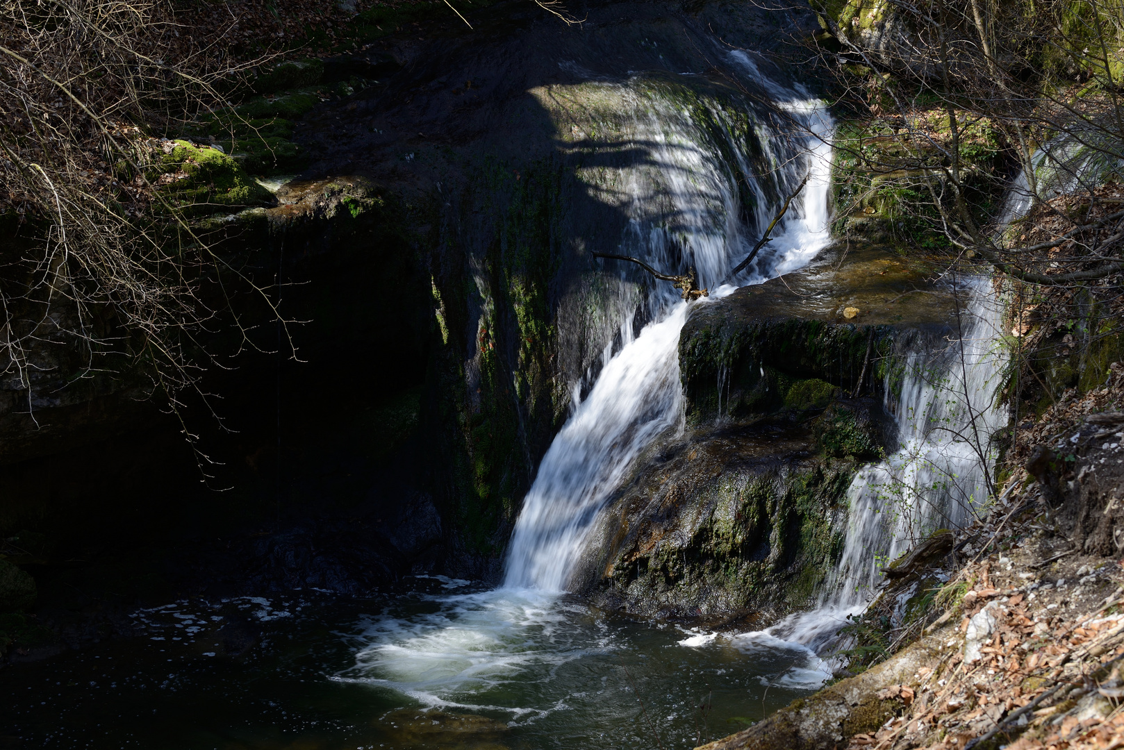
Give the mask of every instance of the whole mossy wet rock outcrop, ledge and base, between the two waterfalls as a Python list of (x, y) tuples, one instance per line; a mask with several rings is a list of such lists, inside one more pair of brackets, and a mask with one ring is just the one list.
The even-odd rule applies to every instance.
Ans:
[(894, 448), (896, 363), (918, 336), (946, 334), (957, 305), (924, 263), (842, 246), (697, 305), (679, 350), (689, 430), (638, 460), (571, 588), (714, 624), (812, 605), (842, 551), (855, 469)]

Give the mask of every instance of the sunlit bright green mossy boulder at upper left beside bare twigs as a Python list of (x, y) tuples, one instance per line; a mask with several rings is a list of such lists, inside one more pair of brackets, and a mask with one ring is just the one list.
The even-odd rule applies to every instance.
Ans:
[(273, 195), (218, 148), (174, 141), (160, 161), (157, 182), (173, 205), (190, 214), (272, 206)]

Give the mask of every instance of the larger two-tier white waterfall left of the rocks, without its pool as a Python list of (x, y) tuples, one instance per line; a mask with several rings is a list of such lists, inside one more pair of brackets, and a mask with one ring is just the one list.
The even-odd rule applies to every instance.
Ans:
[[(711, 289), (711, 299), (729, 293), (734, 284), (759, 283), (797, 269), (830, 242), (831, 116), (806, 92), (769, 81), (744, 53), (731, 53), (729, 60), (761, 82), (795, 124), (783, 132), (761, 119), (754, 123), (773, 165), (774, 189), (765, 190), (763, 178), (754, 174), (741, 144), (729, 135), (732, 128), (726, 145), (736, 156), (734, 164), (722, 159), (716, 144), (707, 143), (680, 106), (655, 99), (638, 116), (637, 129), (653, 144), (661, 201), (669, 205), (655, 210), (651, 193), (634, 184), (632, 232), (623, 243), (628, 254), (664, 269), (674, 262), (676, 247), (681, 247), (700, 286), (714, 287), (749, 253), (785, 195), (810, 174), (768, 251), (732, 283)], [(724, 121), (723, 112), (714, 115)], [(738, 218), (735, 172), (755, 193), (752, 222)], [(655, 225), (654, 214), (662, 226)], [(622, 322), (624, 346), (601, 370), (538, 467), (511, 536), (507, 588), (564, 590), (597, 513), (632, 461), (656, 435), (682, 426), (678, 347), (689, 306), (670, 284), (653, 290), (646, 305), (651, 322), (635, 336), (633, 316)]]

